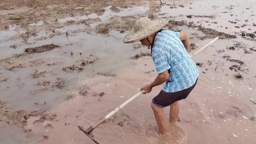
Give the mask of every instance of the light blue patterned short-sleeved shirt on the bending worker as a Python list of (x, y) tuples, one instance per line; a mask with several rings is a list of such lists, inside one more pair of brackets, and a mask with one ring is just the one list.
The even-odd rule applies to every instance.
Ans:
[(162, 30), (155, 37), (152, 57), (157, 73), (169, 70), (164, 92), (178, 92), (195, 84), (199, 72), (180, 40), (179, 32)]

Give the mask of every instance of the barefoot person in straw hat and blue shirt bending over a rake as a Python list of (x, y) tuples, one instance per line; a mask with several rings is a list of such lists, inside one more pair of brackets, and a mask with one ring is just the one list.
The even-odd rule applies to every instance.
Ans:
[(178, 31), (162, 30), (168, 18), (140, 18), (134, 24), (134, 31), (128, 33), (123, 42), (140, 41), (151, 48), (151, 55), (158, 76), (149, 85), (144, 86), (144, 94), (165, 82), (160, 93), (152, 99), (151, 107), (161, 134), (166, 134), (167, 124), (164, 107), (170, 105), (169, 121), (175, 123), (179, 115), (179, 103), (195, 87), (199, 72), (190, 58), (188, 34)]

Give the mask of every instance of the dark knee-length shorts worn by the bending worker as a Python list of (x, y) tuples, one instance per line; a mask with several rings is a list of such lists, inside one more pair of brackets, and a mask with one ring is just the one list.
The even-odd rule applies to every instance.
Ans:
[[(197, 79), (196, 79), (197, 82)], [(158, 107), (167, 107), (178, 100), (182, 100), (188, 97), (189, 93), (195, 87), (196, 82), (193, 86), (187, 89), (183, 89), (179, 92), (164, 92), (161, 91), (155, 98), (152, 99), (152, 102)]]

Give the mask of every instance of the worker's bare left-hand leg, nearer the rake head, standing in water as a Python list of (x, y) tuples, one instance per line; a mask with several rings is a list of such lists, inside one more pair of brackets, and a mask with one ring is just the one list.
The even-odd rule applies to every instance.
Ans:
[(156, 118), (156, 123), (158, 125), (159, 128), (159, 132), (161, 134), (166, 134), (167, 132), (167, 124), (166, 124), (166, 118), (165, 118), (165, 114), (164, 114), (164, 109), (161, 107), (158, 107), (157, 105), (153, 104), (153, 102), (151, 102), (151, 108), (155, 114), (155, 118)]

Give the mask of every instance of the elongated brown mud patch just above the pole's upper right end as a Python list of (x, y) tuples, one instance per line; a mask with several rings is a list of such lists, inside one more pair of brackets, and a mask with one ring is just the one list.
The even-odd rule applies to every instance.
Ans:
[(207, 35), (208, 38), (215, 38), (217, 36), (220, 39), (236, 39), (237, 38), (237, 36), (235, 36), (235, 35), (219, 32), (219, 31), (213, 30), (211, 28), (199, 27), (198, 30), (202, 31), (205, 35)]

